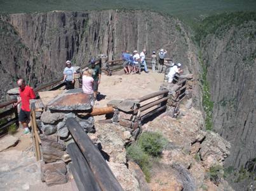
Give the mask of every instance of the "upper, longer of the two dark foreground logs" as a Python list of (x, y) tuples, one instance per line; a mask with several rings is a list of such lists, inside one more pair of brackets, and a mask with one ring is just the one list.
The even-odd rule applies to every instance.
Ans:
[(74, 118), (68, 118), (66, 125), (73, 139), (81, 149), (83, 156), (86, 158), (100, 188), (105, 191), (123, 190), (108, 164), (105, 162), (104, 157), (102, 157), (98, 148), (95, 147), (90, 137), (83, 131), (79, 123), (77, 123)]

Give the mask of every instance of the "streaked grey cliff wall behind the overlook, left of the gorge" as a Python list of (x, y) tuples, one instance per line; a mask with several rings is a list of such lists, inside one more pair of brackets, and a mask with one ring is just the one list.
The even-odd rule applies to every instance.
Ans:
[(158, 13), (52, 11), (0, 18), (0, 73), (9, 73), (4, 78), (8, 79), (7, 87), (0, 83), (2, 96), (18, 77), (38, 85), (60, 77), (67, 59), (81, 66), (97, 54), (119, 58), (124, 50), (145, 48), (151, 54), (163, 47), (174, 61), (184, 63), (189, 70), (196, 68), (189, 32), (179, 20)]

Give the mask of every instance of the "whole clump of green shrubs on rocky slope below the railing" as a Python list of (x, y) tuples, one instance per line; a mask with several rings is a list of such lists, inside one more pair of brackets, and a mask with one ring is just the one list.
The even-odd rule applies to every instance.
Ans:
[(152, 161), (161, 157), (161, 152), (166, 144), (168, 141), (161, 133), (144, 132), (137, 142), (127, 148), (128, 159), (140, 166), (147, 182), (151, 180)]

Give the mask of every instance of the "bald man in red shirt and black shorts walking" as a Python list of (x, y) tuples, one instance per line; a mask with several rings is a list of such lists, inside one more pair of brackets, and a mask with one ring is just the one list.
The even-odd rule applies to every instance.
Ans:
[(20, 123), (22, 123), (23, 128), (25, 128), (24, 133), (30, 133), (29, 127), (27, 126), (30, 120), (29, 100), (35, 99), (36, 94), (32, 87), (25, 85), (24, 79), (19, 79), (17, 84), (18, 87), (20, 87), (20, 98), (18, 99), (18, 102), (14, 104), (14, 106), (17, 106), (20, 102), (22, 102), (22, 108), (20, 108), (18, 120)]

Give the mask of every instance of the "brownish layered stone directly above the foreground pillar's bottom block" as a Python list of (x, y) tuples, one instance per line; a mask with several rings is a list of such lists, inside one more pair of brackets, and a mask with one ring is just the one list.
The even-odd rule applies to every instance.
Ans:
[(40, 135), (41, 137), (41, 153), (45, 163), (52, 163), (61, 160), (65, 154), (64, 141), (58, 140), (56, 134), (53, 135)]

